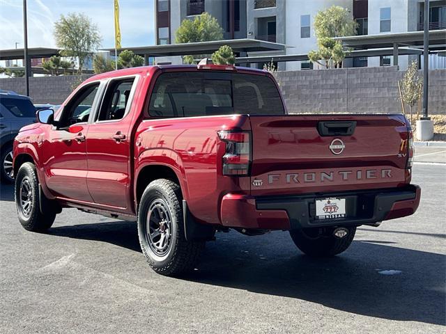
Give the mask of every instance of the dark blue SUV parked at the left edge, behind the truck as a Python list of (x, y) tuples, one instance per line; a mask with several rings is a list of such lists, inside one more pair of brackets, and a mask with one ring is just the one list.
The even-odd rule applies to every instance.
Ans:
[(29, 97), (0, 91), (0, 180), (13, 182), (13, 142), (21, 127), (36, 122), (36, 109)]

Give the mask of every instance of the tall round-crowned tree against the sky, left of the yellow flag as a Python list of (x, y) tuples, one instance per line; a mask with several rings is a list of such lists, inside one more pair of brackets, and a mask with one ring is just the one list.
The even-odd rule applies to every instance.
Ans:
[(61, 15), (59, 21), (54, 23), (54, 38), (57, 47), (63, 49), (62, 56), (78, 59), (79, 74), (82, 73), (85, 59), (93, 56), (101, 43), (98, 26), (88, 16), (80, 13)]

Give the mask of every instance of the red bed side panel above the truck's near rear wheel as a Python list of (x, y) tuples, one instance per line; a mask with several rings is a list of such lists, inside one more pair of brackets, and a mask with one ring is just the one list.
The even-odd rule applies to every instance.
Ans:
[(174, 166), (190, 212), (199, 221), (220, 223), (224, 194), (249, 194), (249, 177), (222, 175), (222, 129), (249, 129), (247, 116), (144, 120), (135, 135), (136, 175), (144, 166)]

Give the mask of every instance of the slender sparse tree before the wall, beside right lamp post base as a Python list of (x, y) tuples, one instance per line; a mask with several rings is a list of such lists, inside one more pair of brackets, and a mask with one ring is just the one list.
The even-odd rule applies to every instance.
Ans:
[(413, 61), (404, 73), (403, 79), (399, 81), (401, 87), (401, 100), (410, 106), (410, 124), (412, 124), (413, 107), (420, 101), (422, 96), (423, 81), (418, 74), (418, 63)]

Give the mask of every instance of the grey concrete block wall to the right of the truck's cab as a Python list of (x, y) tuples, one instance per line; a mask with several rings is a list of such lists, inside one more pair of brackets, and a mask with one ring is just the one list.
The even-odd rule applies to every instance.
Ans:
[[(394, 66), (286, 71), (277, 81), (290, 113), (401, 113), (403, 74)], [(429, 113), (446, 114), (446, 70), (429, 71)]]

